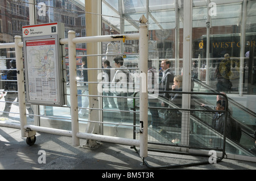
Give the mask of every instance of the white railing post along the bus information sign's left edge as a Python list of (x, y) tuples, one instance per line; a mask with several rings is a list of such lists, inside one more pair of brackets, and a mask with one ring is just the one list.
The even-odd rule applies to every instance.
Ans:
[(19, 114), (20, 114), (20, 131), (21, 137), (26, 137), (24, 125), (27, 125), (26, 117), (26, 96), (24, 86), (24, 74), (23, 74), (23, 58), (22, 47), (19, 47), (19, 43), (22, 42), (21, 36), (15, 36), (15, 57), (16, 57), (16, 69), (17, 69), (17, 86), (18, 86), (18, 99), (19, 99)]

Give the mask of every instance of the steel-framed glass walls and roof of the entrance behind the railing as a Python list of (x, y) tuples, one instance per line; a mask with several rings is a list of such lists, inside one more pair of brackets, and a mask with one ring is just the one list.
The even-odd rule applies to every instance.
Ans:
[[(76, 37), (138, 33), (139, 19), (144, 15), (148, 28), (148, 59), (152, 60), (152, 67), (159, 74), (159, 79), (162, 76), (162, 60), (170, 61), (171, 71), (175, 75), (183, 74), (183, 90), (190, 91), (194, 80), (195, 92), (225, 92), (232, 99), (233, 110), (236, 110), (234, 117), (246, 125), (250, 134), (256, 129), (256, 1), (6, 0), (1, 1), (0, 7), (1, 43), (13, 43), (14, 36), (22, 35), (22, 26), (52, 22), (64, 23), (65, 38), (69, 31), (75, 31)], [(88, 16), (97, 18), (90, 22)], [(76, 46), (77, 77), (80, 77), (81, 59), (85, 56), (92, 58), (96, 62), (93, 68), (100, 71), (102, 60), (105, 59), (114, 68), (113, 59), (117, 55), (123, 56), (125, 67), (133, 73), (140, 66), (137, 40), (104, 42), (93, 45), (93, 48), (88, 43)], [(0, 60), (3, 60), (3, 64), (0, 64), (0, 89), (3, 91), (4, 71), (10, 68), (10, 60), (15, 58), (15, 54), (14, 48), (1, 49), (0, 53)], [(67, 46), (64, 56), (64, 70), (67, 71), (65, 94), (69, 96)], [(89, 79), (88, 82), (94, 81)], [(78, 83), (82, 84), (81, 81)], [(90, 84), (79, 86), (79, 109), (84, 108), (85, 97), (90, 96), (86, 92), (88, 87)], [(215, 98), (207, 98), (202, 97), (215, 104)], [(107, 107), (103, 99), (104, 95), (99, 103), (100, 108)], [(185, 108), (189, 108), (189, 101), (183, 103), (187, 106)], [(133, 107), (133, 104), (132, 100), (128, 101), (129, 107)], [(0, 102), (0, 107), (3, 111), (5, 102)], [(34, 114), (38, 115), (34, 119), (38, 125), (66, 128), (69, 124), (66, 120), (71, 119), (69, 105), (32, 105), (32, 108)], [(102, 114), (98, 114), (101, 121), (110, 118), (118, 121), (115, 120), (117, 110), (114, 108), (101, 111)], [(114, 116), (109, 117), (109, 114)], [(61, 126), (58, 125), (59, 119), (65, 119), (60, 121)], [(80, 120), (87, 121), (88, 114), (85, 117), (80, 115)], [(251, 142), (248, 145), (251, 146)]]

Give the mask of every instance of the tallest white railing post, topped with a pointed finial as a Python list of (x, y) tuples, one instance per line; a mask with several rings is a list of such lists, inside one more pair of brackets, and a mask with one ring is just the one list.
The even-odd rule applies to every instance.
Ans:
[(139, 27), (139, 123), (141, 124), (140, 149), (141, 157), (147, 157), (147, 126), (148, 126), (148, 92), (147, 92), (147, 64), (148, 64), (148, 35), (147, 19), (142, 15)]

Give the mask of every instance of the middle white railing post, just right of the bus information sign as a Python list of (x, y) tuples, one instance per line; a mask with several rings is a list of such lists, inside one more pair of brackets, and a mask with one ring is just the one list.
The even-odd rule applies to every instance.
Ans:
[(76, 37), (75, 31), (68, 31), (68, 62), (69, 62), (69, 85), (72, 117), (72, 143), (79, 146), (78, 104), (77, 104), (77, 80), (76, 80), (76, 44), (73, 39)]

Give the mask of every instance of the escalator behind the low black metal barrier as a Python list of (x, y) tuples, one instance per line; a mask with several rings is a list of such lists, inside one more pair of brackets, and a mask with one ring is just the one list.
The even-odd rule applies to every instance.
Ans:
[[(196, 82), (197, 83), (197, 82)], [(200, 82), (199, 82), (200, 83)], [(201, 84), (201, 86), (203, 83)], [(200, 106), (200, 103), (209, 103), (207, 99), (214, 99), (214, 104), (216, 104), (216, 95), (220, 94), (219, 92), (182, 92), (182, 94), (191, 94), (192, 102), (194, 103), (193, 109), (183, 110), (171, 102), (167, 102), (170, 106), (169, 108), (172, 111), (180, 111), (185, 115), (185, 119), (189, 119), (186, 123), (189, 122), (189, 125), (183, 125), (183, 127), (172, 125), (159, 125), (155, 128), (148, 129), (148, 143), (156, 145), (165, 145), (165, 146), (174, 146), (174, 147), (186, 147), (191, 149), (200, 149), (200, 150), (218, 150), (223, 151), (229, 154), (238, 154), (246, 155), (250, 157), (256, 157), (256, 154), (253, 151), (250, 151), (250, 148), (254, 145), (253, 129), (251, 125), (246, 125), (245, 123), (240, 123), (242, 128), (242, 136), (240, 142), (231, 140), (231, 138), (225, 137), (215, 131), (212, 128), (212, 119), (214, 112), (216, 110), (206, 110)], [(163, 98), (159, 97), (160, 101), (166, 101)], [(232, 100), (230, 101), (232, 102)], [(150, 108), (150, 107), (149, 107)], [(160, 106), (158, 109), (163, 109)], [(162, 117), (164, 118), (165, 111), (162, 112)], [(238, 121), (233, 118), (234, 120)], [(181, 121), (181, 120), (180, 120)], [(184, 122), (183, 122), (184, 124)], [(177, 140), (181, 140), (181, 130), (185, 127), (189, 128), (188, 133), (188, 145), (183, 145)], [(150, 138), (153, 137), (153, 138)], [(210, 138), (214, 138), (217, 141), (217, 145), (209, 144)], [(174, 149), (175, 150), (175, 149)]]

